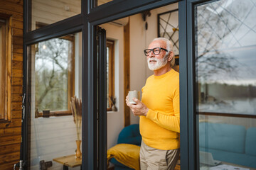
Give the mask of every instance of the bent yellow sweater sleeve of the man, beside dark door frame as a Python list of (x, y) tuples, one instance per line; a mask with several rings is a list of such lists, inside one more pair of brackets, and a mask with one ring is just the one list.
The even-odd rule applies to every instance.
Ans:
[(179, 89), (176, 89), (173, 96), (174, 114), (168, 115), (158, 111), (149, 109), (146, 118), (149, 118), (157, 125), (167, 130), (180, 132), (180, 104), (179, 104)]

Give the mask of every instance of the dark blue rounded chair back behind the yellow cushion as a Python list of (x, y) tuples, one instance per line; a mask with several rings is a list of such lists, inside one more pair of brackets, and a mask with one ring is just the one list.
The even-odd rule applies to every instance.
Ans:
[(122, 129), (119, 133), (117, 144), (127, 143), (140, 146), (142, 136), (139, 133), (139, 124), (132, 124)]

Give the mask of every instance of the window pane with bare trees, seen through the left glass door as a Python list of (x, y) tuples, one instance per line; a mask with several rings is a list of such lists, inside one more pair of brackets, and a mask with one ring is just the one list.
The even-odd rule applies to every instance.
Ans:
[[(73, 38), (72, 35), (69, 35)], [(73, 40), (54, 38), (37, 45), (35, 56), (36, 108), (68, 110), (68, 69), (72, 69)], [(71, 70), (70, 70), (71, 71)], [(71, 80), (71, 79), (70, 79)], [(72, 80), (71, 80), (72, 81)]]

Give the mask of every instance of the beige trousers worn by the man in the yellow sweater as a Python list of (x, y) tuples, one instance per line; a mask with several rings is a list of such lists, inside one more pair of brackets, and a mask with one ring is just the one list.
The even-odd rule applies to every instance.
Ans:
[(139, 157), (141, 170), (173, 170), (178, 161), (179, 149), (155, 149), (142, 141)]

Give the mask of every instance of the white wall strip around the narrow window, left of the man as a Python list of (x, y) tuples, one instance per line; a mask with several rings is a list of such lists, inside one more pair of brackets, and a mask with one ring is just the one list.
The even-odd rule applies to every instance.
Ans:
[(103, 24), (107, 39), (114, 40), (114, 94), (117, 98), (117, 111), (107, 112), (107, 149), (117, 144), (117, 137), (124, 128), (124, 28)]

